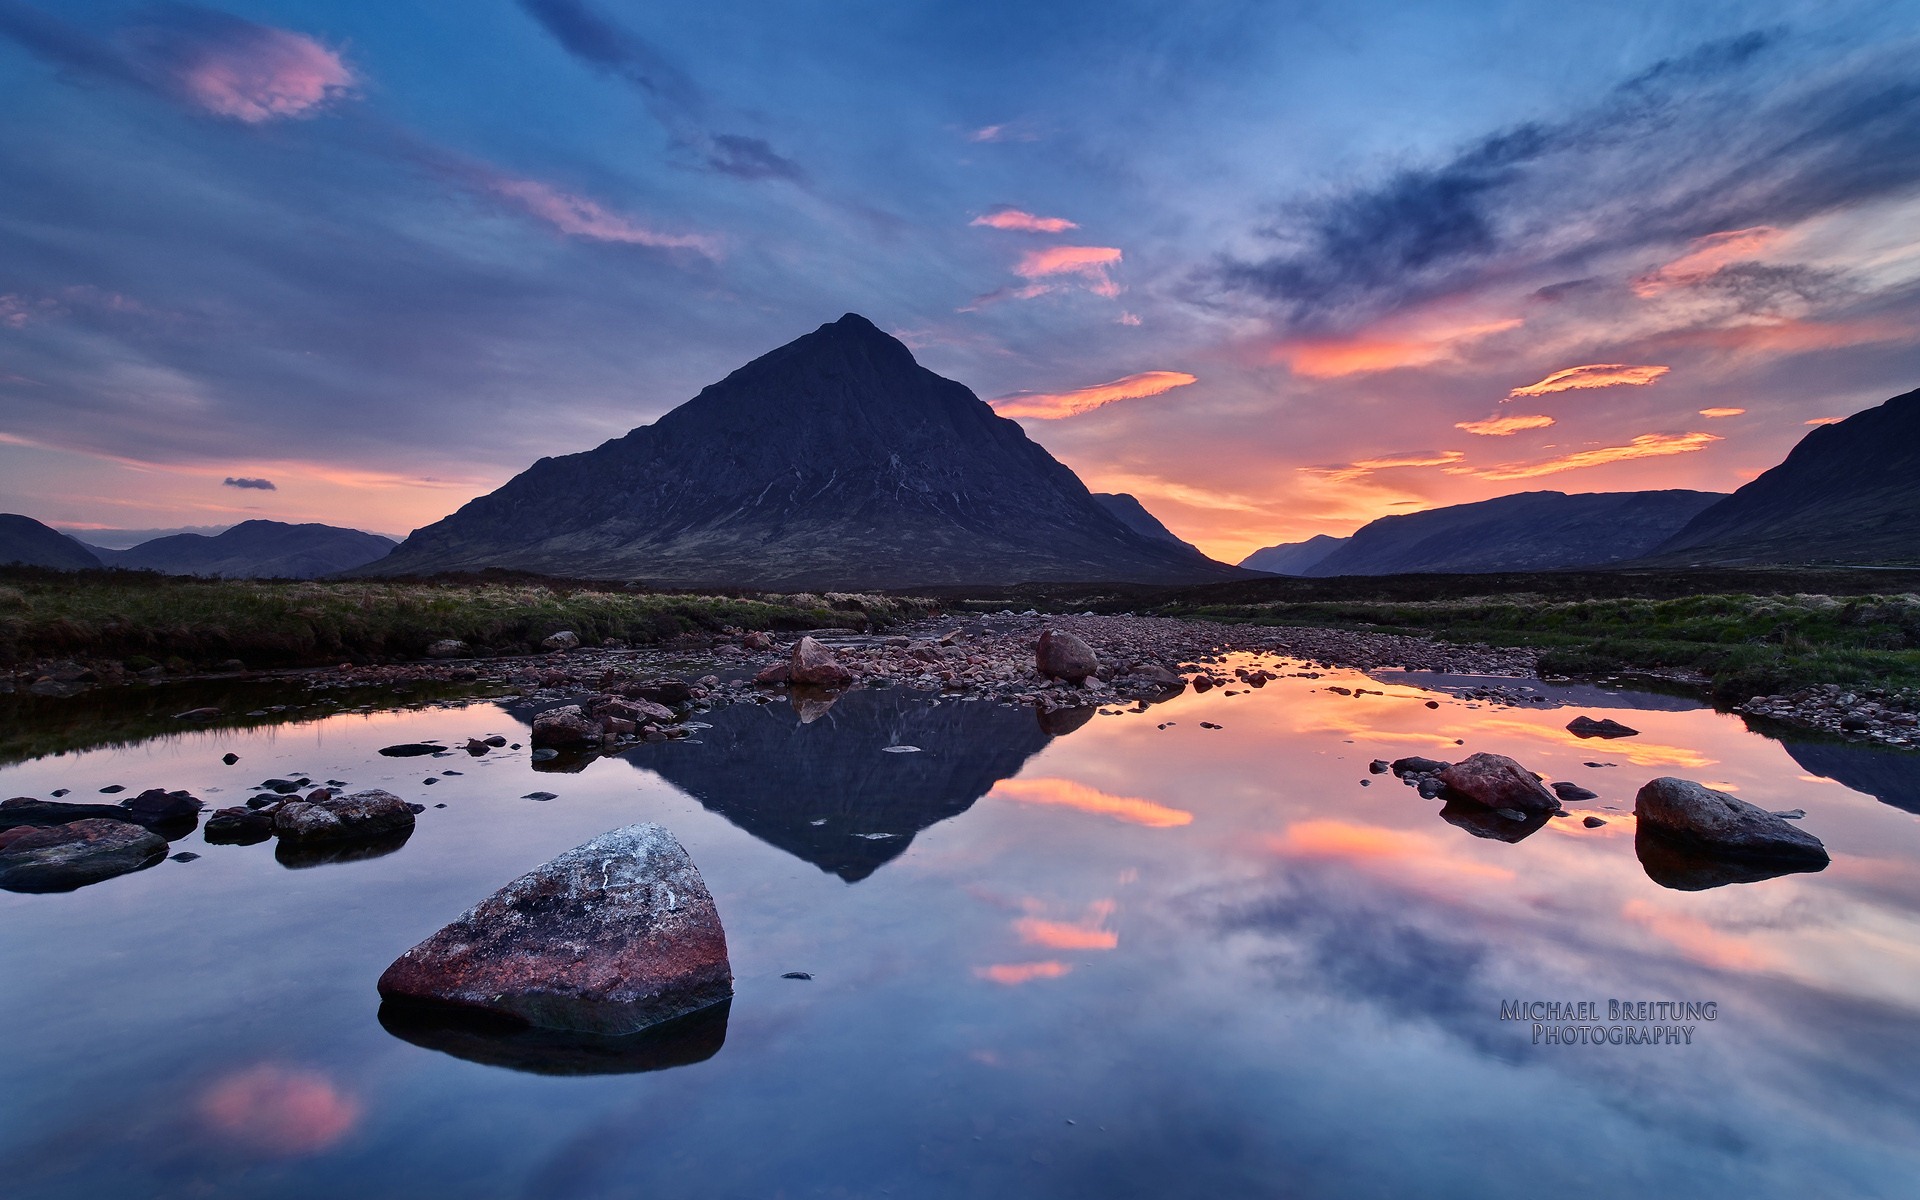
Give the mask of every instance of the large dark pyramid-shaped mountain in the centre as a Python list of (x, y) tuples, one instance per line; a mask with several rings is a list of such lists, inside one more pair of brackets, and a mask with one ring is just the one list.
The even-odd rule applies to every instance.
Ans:
[(534, 463), (359, 574), (488, 566), (768, 589), (1240, 574), (1127, 528), (852, 313), (653, 424)]

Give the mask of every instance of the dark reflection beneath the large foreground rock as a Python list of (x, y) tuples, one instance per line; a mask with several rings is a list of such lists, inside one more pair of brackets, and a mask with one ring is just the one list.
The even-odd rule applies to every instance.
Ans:
[(707, 1062), (726, 1044), (732, 1002), (712, 1004), (639, 1033), (609, 1037), (576, 1029), (540, 1029), (451, 1006), (380, 1004), (380, 1027), (394, 1037), (453, 1058), (530, 1075), (634, 1075)]

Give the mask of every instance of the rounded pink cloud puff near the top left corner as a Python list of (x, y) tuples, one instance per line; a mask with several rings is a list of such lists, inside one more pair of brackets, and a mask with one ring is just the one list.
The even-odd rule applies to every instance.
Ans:
[(184, 48), (173, 71), (192, 104), (248, 125), (317, 115), (357, 83), (315, 38), (242, 21)]

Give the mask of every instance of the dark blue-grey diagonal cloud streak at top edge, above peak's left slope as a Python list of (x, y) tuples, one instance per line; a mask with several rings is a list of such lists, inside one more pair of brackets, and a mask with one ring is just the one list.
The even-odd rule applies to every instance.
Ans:
[(806, 171), (766, 138), (710, 129), (710, 102), (701, 86), (653, 44), (586, 0), (518, 2), (563, 50), (639, 92), (647, 111), (695, 167), (745, 180), (808, 182)]

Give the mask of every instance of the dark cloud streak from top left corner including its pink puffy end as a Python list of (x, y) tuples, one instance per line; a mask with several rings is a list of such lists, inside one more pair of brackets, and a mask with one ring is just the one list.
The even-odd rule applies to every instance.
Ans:
[(315, 117), (359, 83), (319, 38), (192, 6), (156, 10), (104, 40), (25, 4), (0, 2), (0, 35), (77, 75), (246, 125)]

